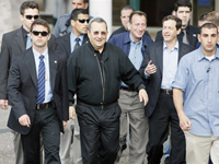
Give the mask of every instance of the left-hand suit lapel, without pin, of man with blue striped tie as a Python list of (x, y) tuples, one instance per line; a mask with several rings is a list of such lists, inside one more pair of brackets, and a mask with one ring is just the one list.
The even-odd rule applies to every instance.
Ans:
[(34, 54), (32, 51), (32, 48), (25, 52), (24, 61), (26, 63), (26, 69), (28, 70), (30, 75), (34, 82), (34, 85), (36, 86), (36, 89), (38, 89), (37, 75), (36, 75), (36, 63), (35, 63)]

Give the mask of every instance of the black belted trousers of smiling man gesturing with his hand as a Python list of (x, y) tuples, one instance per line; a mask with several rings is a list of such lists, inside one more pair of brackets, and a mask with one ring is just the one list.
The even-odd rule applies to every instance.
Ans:
[(160, 164), (163, 143), (168, 139), (171, 124), (170, 164), (185, 163), (185, 137), (180, 128), (178, 117), (170, 94), (160, 93), (155, 109), (149, 117), (148, 164)]

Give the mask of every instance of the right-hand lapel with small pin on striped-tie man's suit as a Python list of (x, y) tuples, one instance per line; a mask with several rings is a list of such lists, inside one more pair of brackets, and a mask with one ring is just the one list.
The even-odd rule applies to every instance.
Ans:
[(58, 55), (55, 51), (48, 50), (48, 58), (49, 58), (50, 85), (51, 85), (51, 91), (54, 91), (55, 80), (56, 80), (56, 69), (58, 65)]

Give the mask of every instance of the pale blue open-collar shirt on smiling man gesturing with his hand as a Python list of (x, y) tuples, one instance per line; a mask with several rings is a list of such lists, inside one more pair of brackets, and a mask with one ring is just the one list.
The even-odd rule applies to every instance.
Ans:
[(173, 49), (169, 50), (165, 42), (163, 42), (163, 75), (161, 89), (172, 90), (172, 82), (177, 70), (178, 61), (178, 42)]

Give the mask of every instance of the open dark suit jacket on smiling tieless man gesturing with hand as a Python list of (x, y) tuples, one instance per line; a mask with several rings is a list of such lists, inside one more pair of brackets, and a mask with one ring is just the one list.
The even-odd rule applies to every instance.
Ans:
[[(194, 50), (192, 46), (178, 42), (178, 60), (185, 54), (188, 54), (192, 50)], [(150, 60), (152, 60), (152, 63), (155, 65), (157, 72), (150, 74), (148, 79), (147, 92), (149, 96), (149, 102), (145, 107), (147, 117), (150, 117), (152, 115), (160, 94), (162, 74), (163, 74), (163, 42), (157, 42), (147, 47), (145, 59), (139, 70), (142, 78), (145, 78), (145, 69)]]

